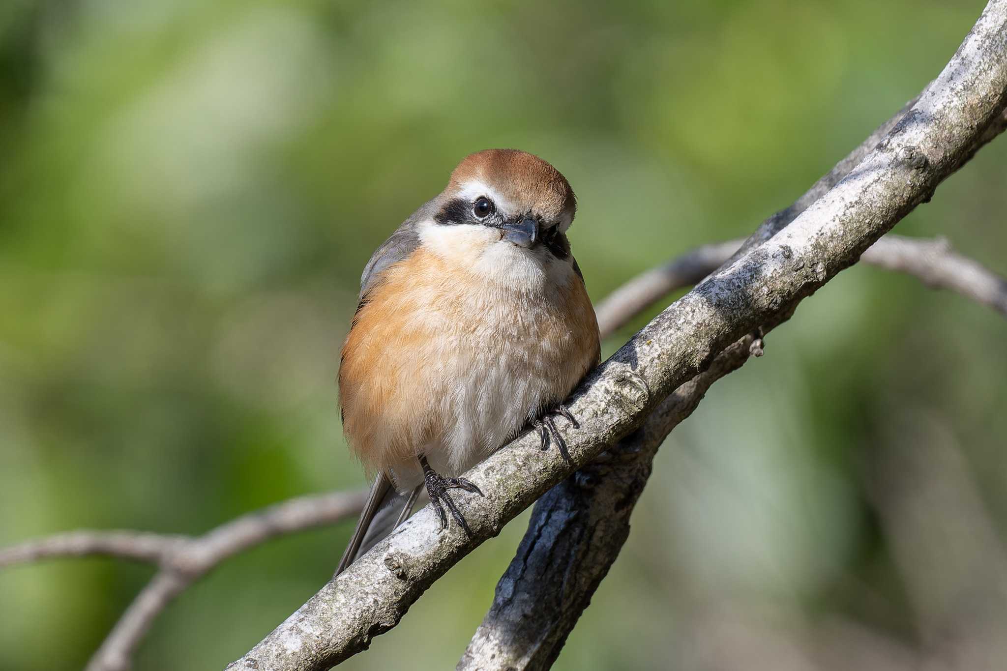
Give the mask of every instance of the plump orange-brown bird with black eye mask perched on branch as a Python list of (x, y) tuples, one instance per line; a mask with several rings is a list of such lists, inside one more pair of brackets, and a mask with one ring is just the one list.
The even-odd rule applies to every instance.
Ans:
[(447, 186), (374, 253), (343, 342), (339, 409), (374, 484), (338, 575), (424, 493), (471, 529), (452, 491), (526, 428), (570, 461), (556, 420), (600, 361), (567, 231), (577, 199), (551, 164), (515, 149), (466, 156)]

